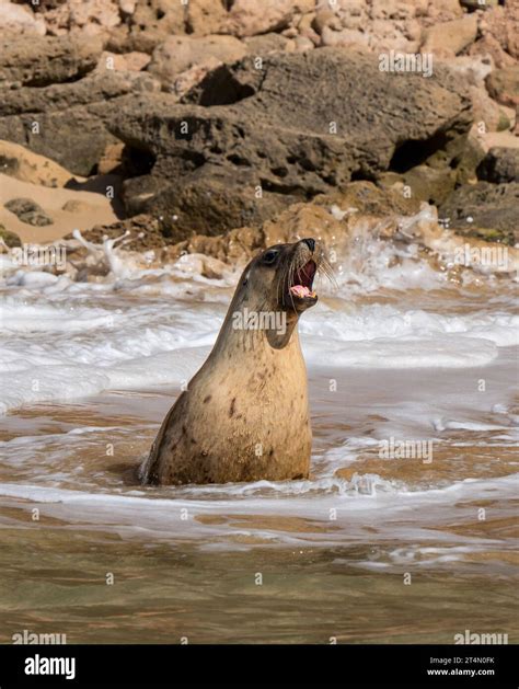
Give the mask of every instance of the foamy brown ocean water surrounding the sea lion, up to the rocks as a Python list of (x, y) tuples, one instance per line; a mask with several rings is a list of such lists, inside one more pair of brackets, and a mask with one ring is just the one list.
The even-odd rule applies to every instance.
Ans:
[(2, 262), (1, 641), (518, 640), (510, 277), (361, 242), (300, 322), (311, 479), (157, 489), (135, 469), (239, 273)]

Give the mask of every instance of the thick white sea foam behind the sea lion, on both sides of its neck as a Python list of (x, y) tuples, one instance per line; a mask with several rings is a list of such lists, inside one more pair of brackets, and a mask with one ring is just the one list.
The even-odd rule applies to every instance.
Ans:
[[(136, 307), (120, 292), (96, 294), (77, 285), (66, 296), (10, 292), (2, 307), (2, 411), (109, 388), (176, 384), (203, 363), (226, 310), (178, 300)], [(310, 366), (453, 368), (493, 361), (498, 347), (517, 340), (518, 323), (501, 312), (442, 315), (335, 302), (304, 314), (300, 330)]]

